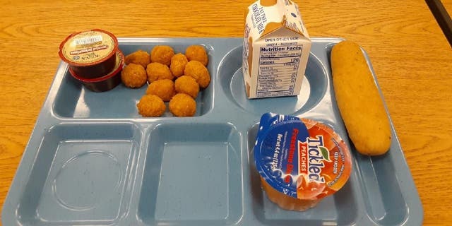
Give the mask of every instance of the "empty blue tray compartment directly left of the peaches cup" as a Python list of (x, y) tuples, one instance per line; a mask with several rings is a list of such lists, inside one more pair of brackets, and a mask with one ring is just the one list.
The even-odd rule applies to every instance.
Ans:
[(160, 124), (150, 132), (138, 216), (147, 225), (231, 225), (242, 215), (239, 132)]

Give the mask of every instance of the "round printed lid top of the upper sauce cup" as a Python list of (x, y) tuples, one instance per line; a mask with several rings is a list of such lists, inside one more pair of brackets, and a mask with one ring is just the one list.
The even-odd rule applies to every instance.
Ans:
[(104, 61), (117, 51), (117, 38), (95, 29), (70, 35), (59, 48), (61, 59), (69, 64), (88, 66)]

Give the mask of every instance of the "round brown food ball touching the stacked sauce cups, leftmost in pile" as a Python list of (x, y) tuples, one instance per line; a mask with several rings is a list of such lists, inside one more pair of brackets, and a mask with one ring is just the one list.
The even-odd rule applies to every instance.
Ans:
[(128, 64), (121, 71), (121, 81), (129, 88), (140, 88), (147, 78), (146, 71), (140, 64)]

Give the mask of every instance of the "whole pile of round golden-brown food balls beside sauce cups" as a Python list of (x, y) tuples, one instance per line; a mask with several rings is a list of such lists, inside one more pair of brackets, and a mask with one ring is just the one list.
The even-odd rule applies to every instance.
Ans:
[(121, 81), (126, 87), (148, 85), (136, 107), (143, 117), (160, 117), (169, 111), (177, 117), (196, 113), (196, 97), (208, 87), (210, 74), (206, 68), (208, 55), (201, 45), (191, 45), (185, 54), (174, 53), (167, 45), (157, 45), (150, 51), (138, 50), (126, 56)]

